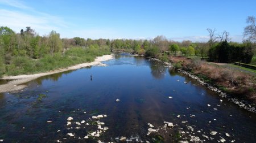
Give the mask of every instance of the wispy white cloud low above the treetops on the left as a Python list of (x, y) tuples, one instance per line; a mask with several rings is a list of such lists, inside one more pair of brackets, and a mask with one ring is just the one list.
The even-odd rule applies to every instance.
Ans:
[(26, 6), (20, 1), (0, 0), (0, 5), (15, 8), (15, 10), (9, 10), (8, 7), (0, 9), (1, 25), (10, 27), (15, 32), (19, 32), (20, 29), (26, 27), (31, 27), (39, 34), (44, 35), (52, 30), (58, 31), (61, 28), (67, 28), (68, 25), (63, 19), (36, 11), (34, 8)]

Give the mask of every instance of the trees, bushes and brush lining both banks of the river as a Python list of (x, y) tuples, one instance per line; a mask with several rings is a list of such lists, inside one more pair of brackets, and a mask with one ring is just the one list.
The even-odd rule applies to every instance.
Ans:
[[(248, 19), (250, 18), (249, 16)], [(250, 23), (255, 21), (249, 21)], [(157, 36), (153, 40), (85, 40), (80, 37), (61, 39), (60, 34), (55, 31), (50, 32), (48, 36), (39, 36), (30, 27), (21, 29), (20, 33), (15, 33), (8, 27), (0, 27), (0, 76), (46, 72), (92, 62), (95, 57), (110, 54), (110, 51), (115, 50), (158, 58), (164, 62), (171, 61), (176, 68), (191, 71), (209, 83), (216, 84), (225, 92), (246, 95), (243, 97), (256, 101), (254, 75), (213, 66), (199, 59), (186, 59), (201, 57), (211, 62), (254, 64), (254, 38), (251, 38), (250, 33), (246, 33), (246, 28), (244, 34), (249, 38), (242, 44), (228, 42), (229, 34), (226, 31), (218, 36), (214, 33), (215, 29), (207, 31), (210, 37), (208, 42), (176, 42), (167, 40), (164, 36)]]

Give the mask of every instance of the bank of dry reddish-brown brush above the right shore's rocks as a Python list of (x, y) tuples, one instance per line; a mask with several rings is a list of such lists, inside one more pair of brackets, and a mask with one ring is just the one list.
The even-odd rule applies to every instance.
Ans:
[(182, 68), (201, 77), (224, 92), (256, 102), (256, 77), (231, 68), (203, 62), (200, 59), (170, 57), (176, 68)]

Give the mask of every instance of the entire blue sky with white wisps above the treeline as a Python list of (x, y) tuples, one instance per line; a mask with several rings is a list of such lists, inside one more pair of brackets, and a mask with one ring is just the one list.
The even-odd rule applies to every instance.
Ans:
[(255, 0), (0, 0), (0, 25), (15, 32), (30, 26), (41, 36), (54, 30), (61, 38), (207, 41), (206, 29), (215, 28), (241, 42), (247, 16), (256, 16)]

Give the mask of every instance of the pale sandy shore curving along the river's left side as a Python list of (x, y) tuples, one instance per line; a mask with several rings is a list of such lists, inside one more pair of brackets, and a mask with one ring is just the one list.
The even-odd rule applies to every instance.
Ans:
[(3, 92), (12, 92), (15, 90), (20, 90), (23, 88), (26, 88), (27, 85), (22, 85), (24, 83), (27, 83), (28, 81), (35, 80), (38, 77), (41, 76), (46, 76), (46, 75), (52, 75), (54, 73), (59, 73), (59, 72), (64, 72), (64, 71), (69, 71), (69, 70), (77, 70), (82, 67), (88, 67), (88, 66), (104, 66), (102, 64), (102, 61), (105, 60), (110, 60), (113, 58), (113, 54), (111, 55), (103, 55), (102, 57), (97, 57), (94, 62), (91, 63), (82, 63), (82, 64), (77, 64), (75, 66), (67, 67), (67, 68), (62, 68), (59, 70), (54, 70), (54, 71), (49, 71), (49, 72), (44, 72), (44, 73), (36, 73), (32, 75), (18, 75), (18, 76), (5, 76), (2, 77), (2, 80), (12, 80), (9, 81), (7, 84), (0, 85), (0, 93)]

